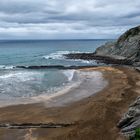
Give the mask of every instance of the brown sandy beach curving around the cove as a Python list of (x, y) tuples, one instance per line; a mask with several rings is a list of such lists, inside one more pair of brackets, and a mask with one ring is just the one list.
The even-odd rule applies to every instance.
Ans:
[(0, 140), (125, 140), (116, 127), (128, 106), (140, 94), (140, 74), (131, 68), (97, 67), (108, 86), (67, 106), (44, 103), (0, 108), (0, 123), (62, 123), (62, 128), (0, 129)]

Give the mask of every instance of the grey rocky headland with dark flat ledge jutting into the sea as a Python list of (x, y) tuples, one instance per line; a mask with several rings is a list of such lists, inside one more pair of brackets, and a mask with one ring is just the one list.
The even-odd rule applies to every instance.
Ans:
[(121, 35), (115, 42), (107, 42), (94, 53), (71, 53), (67, 59), (96, 60), (99, 63), (140, 67), (140, 26)]

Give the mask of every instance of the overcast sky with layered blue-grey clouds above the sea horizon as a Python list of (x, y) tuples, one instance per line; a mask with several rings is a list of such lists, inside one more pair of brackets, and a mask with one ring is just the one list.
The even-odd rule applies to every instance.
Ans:
[(114, 39), (140, 25), (140, 0), (0, 0), (0, 39)]

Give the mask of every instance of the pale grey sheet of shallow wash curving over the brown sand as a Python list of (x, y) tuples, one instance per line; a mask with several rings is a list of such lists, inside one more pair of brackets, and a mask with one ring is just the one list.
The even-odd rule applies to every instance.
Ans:
[(77, 82), (72, 83), (51, 96), (33, 97), (37, 102), (44, 102), (46, 107), (62, 106), (89, 97), (107, 86), (107, 81), (99, 71), (75, 71)]

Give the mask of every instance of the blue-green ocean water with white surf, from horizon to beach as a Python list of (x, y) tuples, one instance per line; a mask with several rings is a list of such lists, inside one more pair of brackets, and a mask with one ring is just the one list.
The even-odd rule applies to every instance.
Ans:
[(0, 104), (52, 95), (74, 81), (74, 70), (17, 69), (15, 66), (97, 65), (95, 61), (68, 60), (63, 54), (94, 52), (109, 40), (0, 41)]

